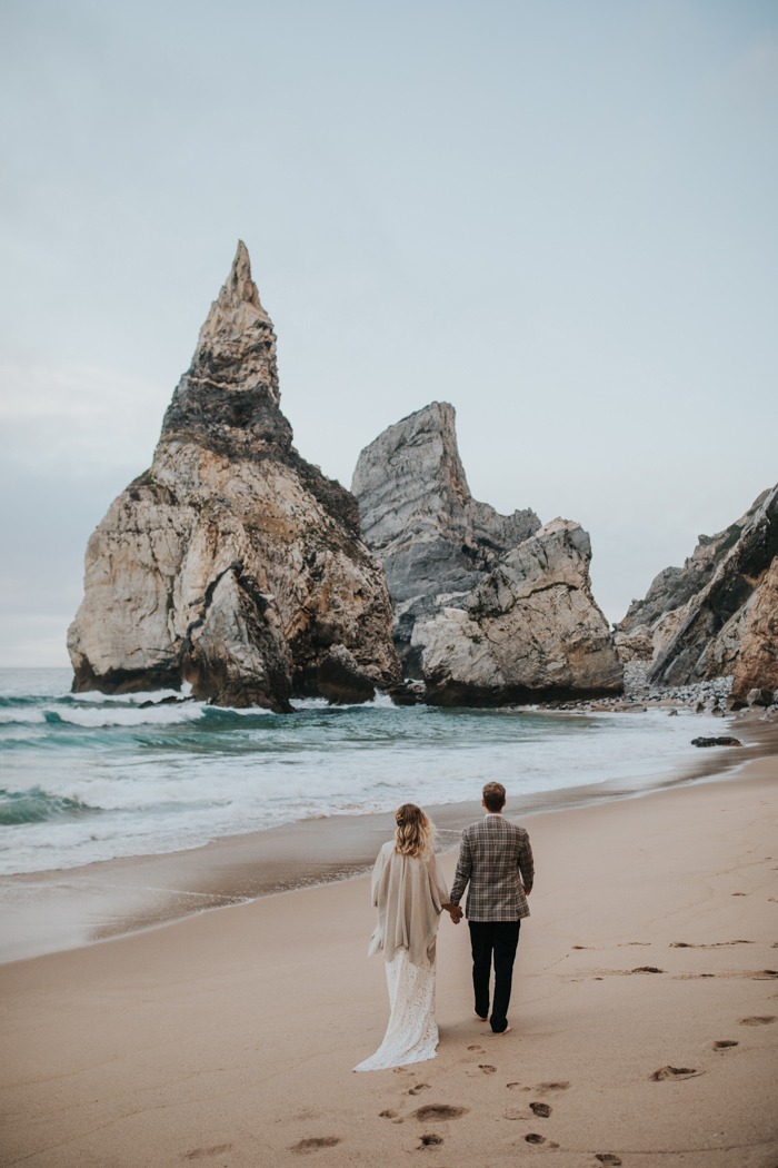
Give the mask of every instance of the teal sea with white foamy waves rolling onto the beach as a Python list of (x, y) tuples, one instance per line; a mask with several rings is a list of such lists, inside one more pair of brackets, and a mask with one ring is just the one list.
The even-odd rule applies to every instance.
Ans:
[[(293, 714), (71, 694), (69, 669), (0, 669), (0, 875), (195, 848), (294, 820), (567, 788), (650, 790), (721, 718), (295, 703)], [(187, 696), (187, 695), (183, 695)], [(603, 787), (604, 790), (604, 787)]]

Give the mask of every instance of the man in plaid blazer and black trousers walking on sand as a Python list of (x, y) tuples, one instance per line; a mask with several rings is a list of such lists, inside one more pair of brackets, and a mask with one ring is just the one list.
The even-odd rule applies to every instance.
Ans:
[[(468, 883), (467, 916), (472, 947), (472, 987), (476, 1014), (489, 1017), (489, 980), (495, 962), (495, 996), (491, 1028), (507, 1034), (507, 1004), (511, 1000), (513, 960), (519, 944), (521, 919), (530, 916), (527, 897), (532, 891), (534, 865), (530, 836), (523, 827), (503, 816), (505, 787), (488, 783), (483, 790), (483, 820), (465, 827), (460, 860), (451, 887), (451, 904), (458, 908)], [(451, 913), (455, 924), (462, 919)]]

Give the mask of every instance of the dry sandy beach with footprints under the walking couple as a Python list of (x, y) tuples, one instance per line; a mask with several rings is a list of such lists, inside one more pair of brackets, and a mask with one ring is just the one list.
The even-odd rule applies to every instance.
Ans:
[(776, 1168), (778, 759), (526, 823), (510, 1035), (446, 918), (437, 1057), (355, 1075), (367, 877), (267, 896), (0, 967), (0, 1162)]

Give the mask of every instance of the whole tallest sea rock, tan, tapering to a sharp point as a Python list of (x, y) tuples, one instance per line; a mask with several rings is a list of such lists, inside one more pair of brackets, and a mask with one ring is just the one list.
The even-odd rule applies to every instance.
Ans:
[(190, 682), (220, 704), (363, 701), (399, 679), (356, 501), (292, 445), (275, 335), (243, 243), (175, 390), (150, 470), (86, 551), (73, 688)]

